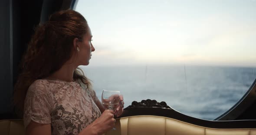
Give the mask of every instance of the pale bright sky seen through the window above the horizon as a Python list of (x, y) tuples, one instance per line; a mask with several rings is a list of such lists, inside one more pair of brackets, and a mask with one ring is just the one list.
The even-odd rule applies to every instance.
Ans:
[(90, 65), (256, 67), (256, 0), (78, 0)]

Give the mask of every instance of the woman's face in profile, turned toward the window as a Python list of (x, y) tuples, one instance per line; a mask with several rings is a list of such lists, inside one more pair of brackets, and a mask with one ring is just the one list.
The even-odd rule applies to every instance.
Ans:
[(92, 45), (92, 32), (90, 27), (88, 26), (88, 31), (85, 35), (83, 35), (82, 41), (78, 43), (79, 51), (78, 53), (78, 64), (79, 65), (88, 65), (89, 61), (92, 57), (92, 51), (95, 51), (95, 48)]

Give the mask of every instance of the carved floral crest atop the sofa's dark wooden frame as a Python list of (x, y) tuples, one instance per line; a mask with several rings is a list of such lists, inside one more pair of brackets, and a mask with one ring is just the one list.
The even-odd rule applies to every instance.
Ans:
[(127, 108), (138, 108), (138, 107), (154, 107), (154, 108), (166, 108), (171, 109), (170, 106), (167, 106), (167, 104), (162, 102), (157, 102), (156, 100), (141, 100), (141, 102), (133, 101), (131, 103), (131, 106), (128, 106)]

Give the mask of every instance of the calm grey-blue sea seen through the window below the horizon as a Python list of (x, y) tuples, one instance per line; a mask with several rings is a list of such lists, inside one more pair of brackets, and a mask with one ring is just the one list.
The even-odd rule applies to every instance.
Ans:
[(132, 101), (165, 101), (188, 116), (215, 119), (235, 105), (256, 78), (256, 67), (82, 66), (101, 98), (103, 89), (120, 90)]

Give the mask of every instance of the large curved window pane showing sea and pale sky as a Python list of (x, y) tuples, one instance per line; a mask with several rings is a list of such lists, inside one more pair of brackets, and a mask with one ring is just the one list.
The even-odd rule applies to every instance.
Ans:
[(95, 52), (82, 66), (100, 98), (120, 90), (132, 101), (165, 101), (214, 119), (256, 78), (255, 0), (79, 0)]

